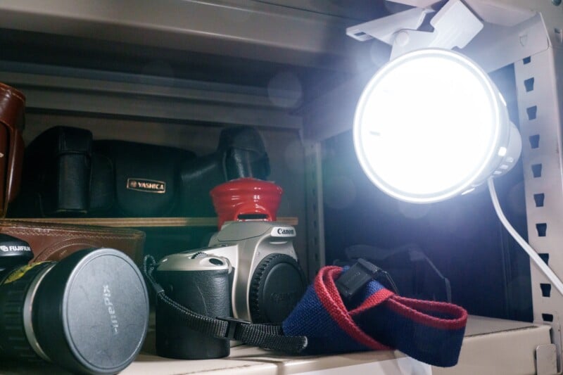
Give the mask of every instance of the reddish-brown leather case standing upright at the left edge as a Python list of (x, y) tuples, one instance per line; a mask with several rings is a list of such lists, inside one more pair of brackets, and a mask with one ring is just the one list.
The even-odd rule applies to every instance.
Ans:
[(0, 83), (0, 217), (20, 190), (25, 96)]

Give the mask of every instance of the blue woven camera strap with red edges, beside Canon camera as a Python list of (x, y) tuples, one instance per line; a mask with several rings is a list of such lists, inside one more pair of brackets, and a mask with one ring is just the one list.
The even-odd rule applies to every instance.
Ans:
[(375, 280), (348, 301), (335, 280), (341, 267), (323, 267), (282, 323), (287, 336), (307, 336), (305, 352), (329, 354), (398, 349), (440, 367), (457, 363), (467, 311), (451, 303), (396, 295)]

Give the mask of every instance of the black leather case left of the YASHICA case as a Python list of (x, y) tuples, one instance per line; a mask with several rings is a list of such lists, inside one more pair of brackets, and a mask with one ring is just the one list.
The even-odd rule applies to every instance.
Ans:
[[(51, 127), (27, 148), (22, 189), (11, 216), (79, 217), (113, 205), (113, 172), (92, 152), (87, 129)], [(94, 178), (94, 176), (96, 176)]]

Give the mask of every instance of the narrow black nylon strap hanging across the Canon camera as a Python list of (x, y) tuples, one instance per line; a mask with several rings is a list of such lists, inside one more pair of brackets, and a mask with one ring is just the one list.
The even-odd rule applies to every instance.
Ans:
[(242, 341), (260, 348), (281, 350), (292, 354), (301, 352), (307, 346), (305, 336), (284, 336), (279, 325), (252, 324), (232, 317), (213, 318), (189, 310), (165, 294), (162, 286), (153, 278), (155, 267), (156, 261), (154, 258), (151, 255), (146, 255), (143, 262), (143, 271), (156, 291), (157, 298), (163, 303), (167, 312), (182, 319), (189, 328), (208, 336)]

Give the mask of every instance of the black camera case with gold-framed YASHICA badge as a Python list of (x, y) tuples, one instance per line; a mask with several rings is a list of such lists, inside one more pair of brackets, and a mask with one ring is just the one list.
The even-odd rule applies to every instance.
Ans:
[(196, 158), (182, 148), (114, 140), (94, 141), (94, 153), (113, 165), (115, 203), (109, 211), (113, 217), (171, 215), (179, 204), (179, 167)]

